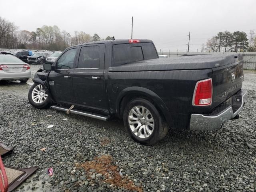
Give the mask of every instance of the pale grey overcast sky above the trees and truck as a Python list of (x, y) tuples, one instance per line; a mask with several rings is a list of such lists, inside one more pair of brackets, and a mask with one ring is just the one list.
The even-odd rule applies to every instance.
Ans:
[(0, 16), (20, 30), (57, 25), (70, 34), (84, 31), (101, 38), (131, 37), (154, 41), (164, 51), (190, 51), (220, 31), (256, 32), (256, 0), (0, 0)]

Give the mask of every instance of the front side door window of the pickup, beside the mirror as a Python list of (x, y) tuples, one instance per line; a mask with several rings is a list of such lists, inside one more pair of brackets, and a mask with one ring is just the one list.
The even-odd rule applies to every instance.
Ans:
[(77, 48), (67, 50), (57, 61), (57, 69), (72, 69), (74, 68), (74, 60)]

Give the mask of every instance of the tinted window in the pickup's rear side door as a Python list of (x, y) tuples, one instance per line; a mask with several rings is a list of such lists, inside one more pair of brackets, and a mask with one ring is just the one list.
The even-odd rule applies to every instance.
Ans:
[(100, 47), (82, 47), (78, 59), (78, 68), (99, 68), (100, 67)]

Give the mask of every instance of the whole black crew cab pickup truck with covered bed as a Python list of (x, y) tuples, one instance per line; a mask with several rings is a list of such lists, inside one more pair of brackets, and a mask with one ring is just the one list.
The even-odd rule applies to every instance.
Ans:
[(240, 54), (159, 59), (151, 40), (108, 40), (72, 46), (45, 63), (28, 99), (36, 108), (117, 116), (135, 141), (151, 145), (169, 127), (213, 130), (238, 118), (243, 79)]

